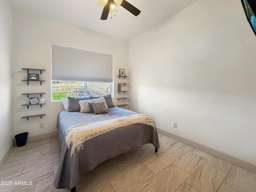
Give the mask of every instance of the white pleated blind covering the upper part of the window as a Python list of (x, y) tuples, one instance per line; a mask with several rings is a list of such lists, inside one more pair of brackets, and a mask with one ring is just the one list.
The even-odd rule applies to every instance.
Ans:
[(112, 55), (52, 45), (52, 80), (112, 82)]

